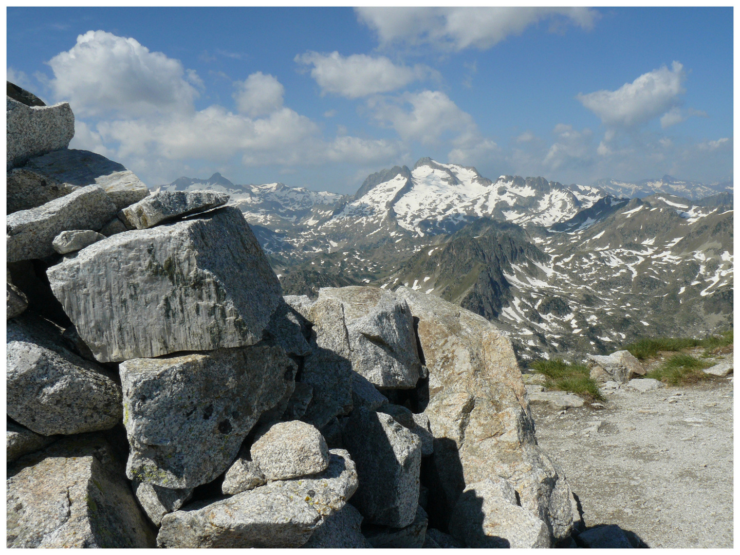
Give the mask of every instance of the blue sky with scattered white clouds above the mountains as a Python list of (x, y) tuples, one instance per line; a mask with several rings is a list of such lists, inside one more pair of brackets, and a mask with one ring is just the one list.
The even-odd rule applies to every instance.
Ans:
[(149, 186), (733, 175), (731, 8), (16, 7), (7, 72)]

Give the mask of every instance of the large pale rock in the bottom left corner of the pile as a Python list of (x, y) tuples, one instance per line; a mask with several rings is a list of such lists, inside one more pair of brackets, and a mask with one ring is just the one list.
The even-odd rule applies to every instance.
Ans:
[(8, 468), (7, 547), (152, 548), (123, 464), (97, 434), (65, 438)]

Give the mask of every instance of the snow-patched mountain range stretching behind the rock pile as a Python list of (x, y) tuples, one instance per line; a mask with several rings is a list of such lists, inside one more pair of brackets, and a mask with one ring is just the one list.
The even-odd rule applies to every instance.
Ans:
[(162, 189), (229, 192), (286, 295), (405, 284), (496, 320), (523, 359), (732, 322), (731, 181), (491, 181), (422, 158), (355, 195), (218, 173)]

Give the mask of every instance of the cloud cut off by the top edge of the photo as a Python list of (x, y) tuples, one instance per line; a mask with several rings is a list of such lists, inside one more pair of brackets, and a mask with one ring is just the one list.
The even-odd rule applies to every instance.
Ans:
[(543, 19), (591, 30), (599, 13), (587, 7), (357, 7), (381, 45), (431, 44), (443, 50), (485, 50)]

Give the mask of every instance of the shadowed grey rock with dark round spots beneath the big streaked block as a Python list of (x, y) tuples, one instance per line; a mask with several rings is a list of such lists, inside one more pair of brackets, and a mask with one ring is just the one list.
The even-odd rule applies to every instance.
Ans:
[[(131, 480), (194, 488), (226, 471), (295, 363), (279, 346), (218, 349), (119, 366)], [(290, 379), (289, 379), (290, 378)]]

